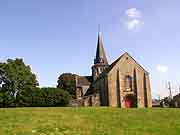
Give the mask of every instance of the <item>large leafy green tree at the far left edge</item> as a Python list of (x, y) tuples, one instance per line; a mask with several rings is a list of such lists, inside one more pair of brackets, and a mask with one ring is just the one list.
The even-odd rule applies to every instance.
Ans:
[(22, 59), (0, 63), (0, 104), (24, 106), (32, 89), (38, 85), (35, 74)]

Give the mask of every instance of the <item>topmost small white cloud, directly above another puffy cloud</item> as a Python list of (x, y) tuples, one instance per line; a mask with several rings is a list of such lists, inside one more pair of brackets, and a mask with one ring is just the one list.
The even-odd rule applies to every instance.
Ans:
[(131, 18), (131, 19), (135, 19), (135, 18), (141, 18), (142, 17), (142, 13), (141, 11), (139, 11), (136, 8), (129, 8), (126, 10), (126, 15)]

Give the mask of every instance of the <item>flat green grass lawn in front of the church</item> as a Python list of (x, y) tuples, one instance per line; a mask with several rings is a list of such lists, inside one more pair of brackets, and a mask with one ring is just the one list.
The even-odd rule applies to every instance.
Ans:
[(0, 135), (179, 134), (179, 109), (0, 109)]

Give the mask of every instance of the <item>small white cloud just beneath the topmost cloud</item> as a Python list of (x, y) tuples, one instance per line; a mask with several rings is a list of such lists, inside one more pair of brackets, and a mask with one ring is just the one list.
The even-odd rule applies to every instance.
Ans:
[(142, 22), (138, 19), (128, 20), (127, 27), (128, 30), (134, 30), (141, 26)]

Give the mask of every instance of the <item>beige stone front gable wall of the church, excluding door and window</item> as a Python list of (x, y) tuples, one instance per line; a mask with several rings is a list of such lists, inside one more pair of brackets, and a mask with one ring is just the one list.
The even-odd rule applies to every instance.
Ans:
[[(136, 89), (134, 85), (134, 72), (136, 73)], [(144, 86), (144, 74), (146, 74), (146, 86)], [(131, 91), (126, 90), (126, 76), (132, 77), (133, 86)], [(118, 89), (121, 107), (125, 107), (124, 97), (127, 94), (136, 96), (137, 107), (139, 108), (145, 107), (146, 100), (147, 107), (152, 106), (149, 75), (134, 59), (132, 59), (132, 57), (127, 54), (124, 55), (108, 73), (109, 105), (112, 107), (118, 106)]]

